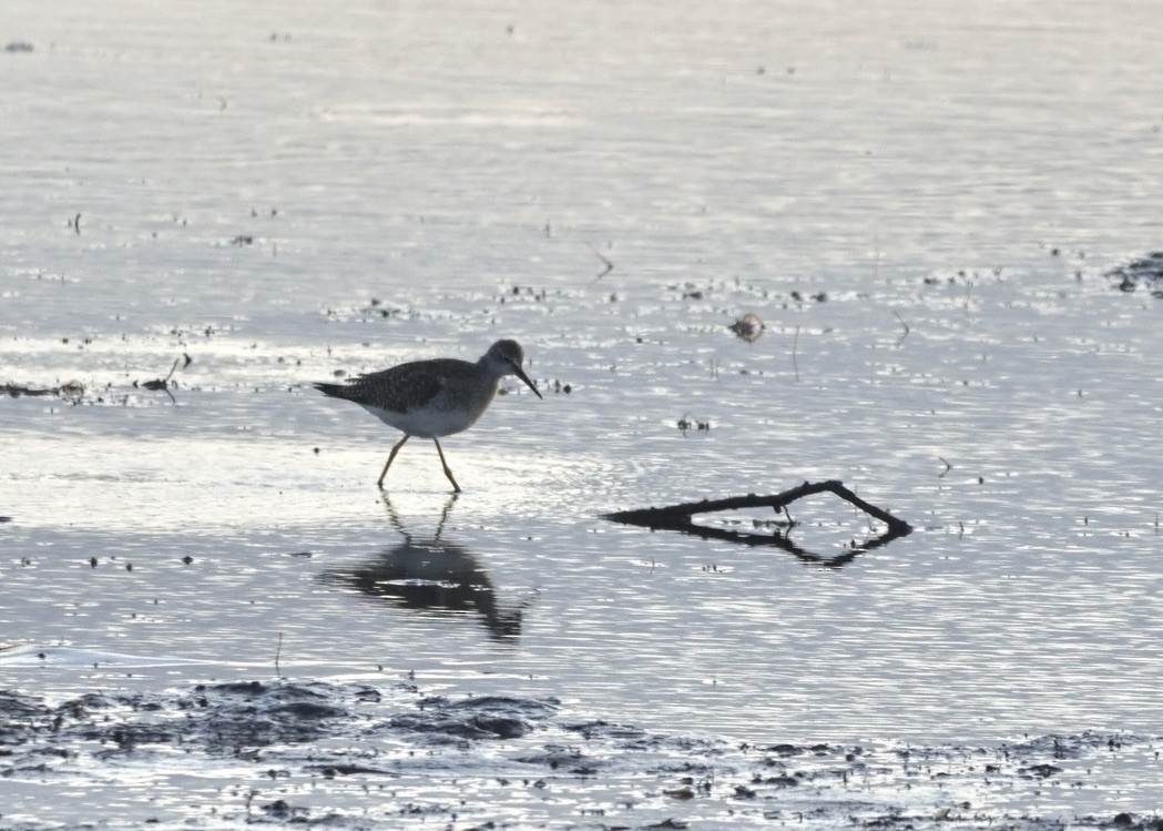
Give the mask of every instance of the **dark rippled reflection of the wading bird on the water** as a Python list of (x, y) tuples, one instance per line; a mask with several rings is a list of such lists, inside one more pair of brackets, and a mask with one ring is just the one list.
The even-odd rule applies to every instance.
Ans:
[(400, 521), (385, 495), (388, 521), (404, 541), (385, 548), (363, 566), (324, 571), (321, 580), (408, 609), (476, 612), (494, 640), (515, 639), (521, 634), (521, 615), (527, 604), (504, 609), (493, 581), (477, 557), (464, 546), (441, 539), (456, 499), (454, 493), (444, 505), (436, 533), (430, 539), (418, 539)]

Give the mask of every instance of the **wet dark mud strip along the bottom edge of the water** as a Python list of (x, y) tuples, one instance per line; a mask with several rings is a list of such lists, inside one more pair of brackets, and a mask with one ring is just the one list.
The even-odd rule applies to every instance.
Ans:
[(562, 710), (409, 683), (0, 692), (0, 828), (1163, 829), (1127, 784), (1158, 781), (1157, 738), (748, 745)]

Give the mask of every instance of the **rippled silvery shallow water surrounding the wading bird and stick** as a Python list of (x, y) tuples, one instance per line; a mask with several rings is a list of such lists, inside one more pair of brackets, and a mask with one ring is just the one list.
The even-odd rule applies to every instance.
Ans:
[[(84, 393), (2, 402), (0, 684), (1157, 734), (1161, 300), (1104, 277), (1160, 247), (1154, 19), (6, 3), (0, 383)], [(545, 399), (385, 505), (394, 434), (309, 383), (500, 336)], [(601, 518), (827, 478), (915, 532), (828, 568)]]

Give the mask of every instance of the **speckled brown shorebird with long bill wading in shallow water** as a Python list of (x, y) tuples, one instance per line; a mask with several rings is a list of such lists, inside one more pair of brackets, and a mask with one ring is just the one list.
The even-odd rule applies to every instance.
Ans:
[(436, 443), (444, 475), (459, 493), (461, 485), (452, 478), (437, 436), (452, 435), (476, 424), (506, 375), (515, 375), (541, 398), (537, 388), (521, 369), (523, 360), (521, 345), (502, 340), (488, 347), (488, 351), (476, 363), (450, 357), (412, 361), (361, 375), (349, 384), (315, 384), (315, 389), (333, 398), (355, 402), (384, 424), (404, 432), (404, 438), (388, 454), (377, 485), (384, 486), (387, 469), (404, 442), (418, 435)]

